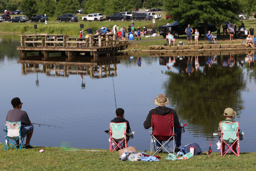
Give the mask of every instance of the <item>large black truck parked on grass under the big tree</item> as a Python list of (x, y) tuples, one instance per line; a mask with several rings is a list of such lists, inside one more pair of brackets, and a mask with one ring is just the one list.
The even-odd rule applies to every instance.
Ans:
[[(179, 24), (178, 21), (173, 22), (172, 24), (169, 25), (163, 25), (159, 27), (159, 33), (162, 35), (164, 38), (166, 38), (167, 32), (170, 32), (172, 35), (174, 35), (175, 38), (178, 38), (179, 35), (185, 35), (185, 29), (187, 28), (188, 25), (186, 24)], [(215, 32), (217, 31), (217, 28), (214, 24), (208, 24), (207, 26), (207, 31)], [(200, 33), (200, 35), (205, 33), (205, 24), (204, 23), (199, 23), (199, 27), (196, 27)], [(194, 30), (196, 28), (193, 28)]]

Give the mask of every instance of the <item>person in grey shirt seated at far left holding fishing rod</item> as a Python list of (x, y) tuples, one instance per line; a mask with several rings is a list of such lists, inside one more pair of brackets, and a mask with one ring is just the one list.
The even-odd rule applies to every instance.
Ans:
[(15, 97), (13, 100), (11, 100), (11, 104), (13, 105), (13, 110), (9, 110), (6, 116), (6, 121), (9, 122), (19, 122), (21, 121), (21, 130), (27, 131), (26, 132), (26, 143), (24, 144), (24, 147), (26, 149), (32, 149), (33, 147), (29, 145), (29, 142), (31, 140), (34, 126), (31, 124), (31, 121), (29, 120), (28, 114), (21, 110), (22, 104), (21, 100), (18, 97)]

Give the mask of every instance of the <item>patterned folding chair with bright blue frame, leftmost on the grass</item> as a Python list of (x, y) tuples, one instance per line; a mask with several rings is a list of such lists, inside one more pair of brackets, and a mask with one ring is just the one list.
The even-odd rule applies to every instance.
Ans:
[[(26, 136), (26, 131), (21, 131), (21, 122), (8, 122), (6, 121), (5, 126), (5, 143), (4, 143), (4, 150), (8, 150), (10, 148), (15, 147), (16, 150), (23, 149), (23, 140)], [(12, 142), (12, 140), (14, 140)], [(10, 142), (10, 144), (9, 144)], [(16, 143), (16, 144), (14, 144)], [(15, 145), (18, 145), (17, 148)]]

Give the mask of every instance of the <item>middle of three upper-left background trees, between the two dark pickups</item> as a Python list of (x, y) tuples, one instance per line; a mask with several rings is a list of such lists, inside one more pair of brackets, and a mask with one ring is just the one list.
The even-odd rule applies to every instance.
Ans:
[(38, 14), (47, 14), (52, 17), (55, 13), (56, 1), (55, 0), (39, 0), (37, 2)]

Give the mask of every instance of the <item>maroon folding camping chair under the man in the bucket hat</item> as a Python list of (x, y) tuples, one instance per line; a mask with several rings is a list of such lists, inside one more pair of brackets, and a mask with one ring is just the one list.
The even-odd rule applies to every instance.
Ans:
[[(184, 124), (183, 127), (185, 127), (186, 124)], [(166, 114), (166, 115), (151, 115), (151, 144), (150, 144), (150, 156), (154, 156), (154, 154), (160, 152), (160, 150), (165, 149), (168, 153), (173, 152), (175, 153), (176, 148), (176, 140), (177, 135), (175, 134), (174, 128), (182, 128), (180, 126), (174, 125), (174, 115), (173, 114)], [(179, 130), (179, 133), (181, 133), (181, 129)], [(163, 141), (164, 144), (161, 145), (161, 148), (157, 149), (155, 148), (154, 142), (157, 141), (159, 144), (161, 144), (160, 141)], [(168, 146), (168, 143), (173, 140), (173, 149)], [(168, 148), (166, 148), (166, 146)], [(155, 150), (155, 153), (152, 155), (153, 147)], [(170, 149), (169, 152), (167, 149)]]

